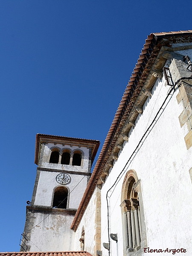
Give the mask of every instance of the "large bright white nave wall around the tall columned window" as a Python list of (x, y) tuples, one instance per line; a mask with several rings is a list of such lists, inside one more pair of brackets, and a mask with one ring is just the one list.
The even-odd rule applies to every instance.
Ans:
[[(176, 71), (173, 65), (174, 61), (170, 66), (174, 80), (178, 74), (174, 74)], [(157, 79), (151, 99), (148, 98), (145, 102), (143, 114), (138, 116), (135, 128), (129, 133), (128, 142), (125, 142), (123, 150), (119, 151), (118, 160), (114, 161), (113, 169), (102, 187), (102, 243), (108, 243), (106, 193), (124, 168), (145, 129), (154, 119), (169, 90), (170, 87), (165, 86), (164, 78)], [(141, 180), (148, 247), (163, 250), (182, 247), (187, 250), (185, 256), (192, 254), (192, 182), (189, 175), (189, 169), (192, 167), (192, 148), (186, 149), (186, 124), (180, 127), (178, 117), (183, 111), (183, 105), (182, 102), (179, 105), (177, 103), (178, 93), (177, 89), (169, 97), (170, 100), (167, 101), (166, 107), (164, 106), (160, 118), (151, 128), (150, 134), (143, 139), (143, 145), (109, 193), (110, 233), (117, 233), (118, 236), (117, 244), (111, 241), (113, 256), (123, 255), (122, 214), (119, 205), (122, 182), (130, 169), (134, 169)], [(103, 246), (102, 256), (108, 256), (108, 250)]]

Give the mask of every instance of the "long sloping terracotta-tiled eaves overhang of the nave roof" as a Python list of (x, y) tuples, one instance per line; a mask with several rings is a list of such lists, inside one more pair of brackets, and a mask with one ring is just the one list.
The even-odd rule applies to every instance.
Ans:
[(151, 33), (145, 40), (144, 47), (137, 60), (137, 64), (134, 67), (130, 80), (128, 81), (128, 85), (125, 88), (125, 92), (122, 96), (102, 150), (99, 154), (99, 158), (87, 184), (87, 188), (84, 192), (81, 203), (79, 204), (79, 208), (77, 209), (76, 215), (73, 219), (71, 229), (76, 230), (79, 222), (81, 221), (108, 157), (116, 144), (125, 121), (128, 118), (129, 113), (131, 112), (149, 73), (151, 72), (151, 67), (156, 61), (160, 50), (162, 47), (171, 48), (172, 44), (183, 41), (192, 43), (192, 30)]

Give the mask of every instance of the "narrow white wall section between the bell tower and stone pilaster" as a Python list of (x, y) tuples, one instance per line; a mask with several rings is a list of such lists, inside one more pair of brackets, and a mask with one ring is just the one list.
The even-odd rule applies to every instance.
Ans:
[(74, 250), (81, 250), (80, 241), (82, 228), (84, 227), (84, 250), (93, 255), (93, 247), (95, 245), (95, 216), (96, 216), (96, 190), (90, 198), (89, 204), (84, 212), (81, 222), (75, 233)]

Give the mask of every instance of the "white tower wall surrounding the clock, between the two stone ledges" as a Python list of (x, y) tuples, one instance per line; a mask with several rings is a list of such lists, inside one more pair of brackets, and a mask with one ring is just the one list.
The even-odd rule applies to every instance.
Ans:
[(60, 185), (56, 181), (58, 174), (61, 174), (61, 172), (40, 172), (34, 205), (51, 207), (55, 188), (64, 186), (68, 189), (67, 208), (77, 209), (87, 186), (87, 177), (84, 175), (68, 174), (71, 177), (70, 183)]

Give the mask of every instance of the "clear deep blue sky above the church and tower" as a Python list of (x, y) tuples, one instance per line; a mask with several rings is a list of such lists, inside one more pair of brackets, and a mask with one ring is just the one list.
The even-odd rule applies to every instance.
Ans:
[(192, 29), (191, 10), (191, 0), (0, 0), (1, 252), (20, 250), (35, 134), (102, 146), (147, 35)]

